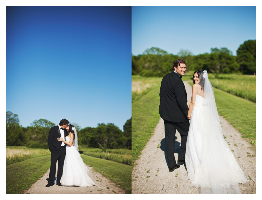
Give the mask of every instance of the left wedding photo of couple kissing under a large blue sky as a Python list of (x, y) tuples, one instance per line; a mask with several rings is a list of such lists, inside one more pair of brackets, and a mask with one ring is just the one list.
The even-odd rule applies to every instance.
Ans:
[(6, 6), (6, 194), (131, 194), (131, 7)]

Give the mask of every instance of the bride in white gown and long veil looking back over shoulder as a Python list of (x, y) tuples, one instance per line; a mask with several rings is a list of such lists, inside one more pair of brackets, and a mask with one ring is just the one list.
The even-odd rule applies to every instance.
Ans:
[(187, 179), (201, 187), (202, 194), (241, 194), (238, 183), (247, 182), (223, 138), (212, 85), (207, 71), (193, 76), (192, 97), (188, 110), (191, 119), (186, 142)]

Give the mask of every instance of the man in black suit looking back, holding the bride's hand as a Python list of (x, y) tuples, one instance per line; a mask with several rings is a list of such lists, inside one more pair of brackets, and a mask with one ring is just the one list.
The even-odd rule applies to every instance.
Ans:
[[(179, 168), (178, 164), (185, 164), (186, 139), (189, 129), (187, 119), (187, 94), (181, 80), (185, 75), (186, 62), (178, 59), (173, 63), (173, 72), (166, 74), (160, 87), (159, 114), (165, 124), (166, 154), (169, 171)], [(174, 156), (176, 130), (181, 135), (181, 148), (178, 152), (178, 164)]]

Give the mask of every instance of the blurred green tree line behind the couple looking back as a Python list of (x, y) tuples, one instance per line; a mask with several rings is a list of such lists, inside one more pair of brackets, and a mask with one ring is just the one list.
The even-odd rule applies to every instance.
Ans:
[[(211, 48), (211, 53), (194, 56), (189, 50), (181, 49), (177, 55), (169, 54), (158, 47), (146, 49), (143, 54), (132, 55), (132, 75), (162, 77), (172, 70), (177, 59), (186, 61), (186, 70), (207, 70), (219, 73), (256, 74), (256, 40), (244, 41), (233, 56), (232, 51)], [(193, 73), (192, 72), (192, 73)]]

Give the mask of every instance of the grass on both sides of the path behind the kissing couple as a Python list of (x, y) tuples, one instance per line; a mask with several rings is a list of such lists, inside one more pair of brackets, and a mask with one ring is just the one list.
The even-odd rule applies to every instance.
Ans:
[[(27, 147), (6, 147), (6, 194), (21, 194), (24, 190), (41, 178), (50, 167), (50, 151)], [(88, 151), (98, 151), (94, 148), (80, 147), (84, 154)], [(131, 150), (110, 150), (113, 154), (121, 153), (130, 157)], [(110, 154), (110, 153), (109, 153)], [(128, 155), (129, 154), (129, 155)], [(126, 193), (131, 193), (131, 166), (122, 163), (94, 158), (81, 154), (86, 164), (100, 172)], [(117, 156), (115, 156), (117, 157)], [(109, 156), (114, 158), (114, 156)], [(120, 160), (118, 160), (120, 161)]]

